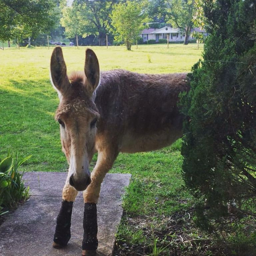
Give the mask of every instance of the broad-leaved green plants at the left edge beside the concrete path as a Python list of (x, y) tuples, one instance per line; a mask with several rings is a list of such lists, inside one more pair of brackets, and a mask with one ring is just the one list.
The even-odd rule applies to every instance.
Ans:
[(9, 150), (7, 157), (0, 158), (0, 215), (8, 212), (3, 212), (3, 209), (14, 209), (28, 198), (29, 188), (24, 186), (22, 180), (24, 171), (19, 172), (18, 169), (30, 157), (18, 161), (17, 153), (11, 156)]

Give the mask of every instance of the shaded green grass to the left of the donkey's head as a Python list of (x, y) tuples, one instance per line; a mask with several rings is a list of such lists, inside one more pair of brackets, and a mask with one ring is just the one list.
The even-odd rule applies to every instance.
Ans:
[(0, 155), (11, 147), (21, 157), (32, 154), (27, 162), (31, 170), (66, 169), (59, 125), (54, 120), (58, 101), (48, 79), (10, 79), (8, 87), (0, 92)]

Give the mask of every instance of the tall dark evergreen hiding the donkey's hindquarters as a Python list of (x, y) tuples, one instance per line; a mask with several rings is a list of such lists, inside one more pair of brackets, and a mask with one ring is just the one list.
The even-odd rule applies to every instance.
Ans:
[[(204, 227), (255, 214), (256, 6), (203, 0), (207, 38), (181, 97), (183, 177)], [(239, 220), (237, 218), (237, 220)], [(207, 223), (207, 225), (206, 225)]]

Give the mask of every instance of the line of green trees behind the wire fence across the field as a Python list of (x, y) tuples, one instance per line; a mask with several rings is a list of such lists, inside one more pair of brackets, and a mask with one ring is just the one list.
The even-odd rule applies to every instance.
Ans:
[[(144, 28), (173, 26), (185, 34), (195, 26), (198, 0), (0, 0), (0, 41), (22, 46), (47, 36), (54, 42), (106, 45), (137, 41)], [(122, 22), (120, 22), (122, 20)], [(140, 39), (139, 39), (139, 42)], [(36, 44), (35, 44), (36, 45)]]

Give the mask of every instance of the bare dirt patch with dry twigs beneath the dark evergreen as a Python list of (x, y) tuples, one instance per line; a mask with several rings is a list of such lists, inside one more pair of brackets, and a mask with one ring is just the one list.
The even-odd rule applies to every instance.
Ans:
[[(236, 254), (228, 242), (216, 239), (212, 234), (200, 231), (192, 220), (193, 210), (161, 216), (154, 221), (153, 216), (128, 217), (124, 224), (135, 233), (141, 230), (143, 243), (129, 244), (129, 239), (116, 241), (114, 256), (161, 255), (161, 256), (209, 256), (209, 255), (256, 255)], [(127, 240), (127, 241), (126, 241)]]

